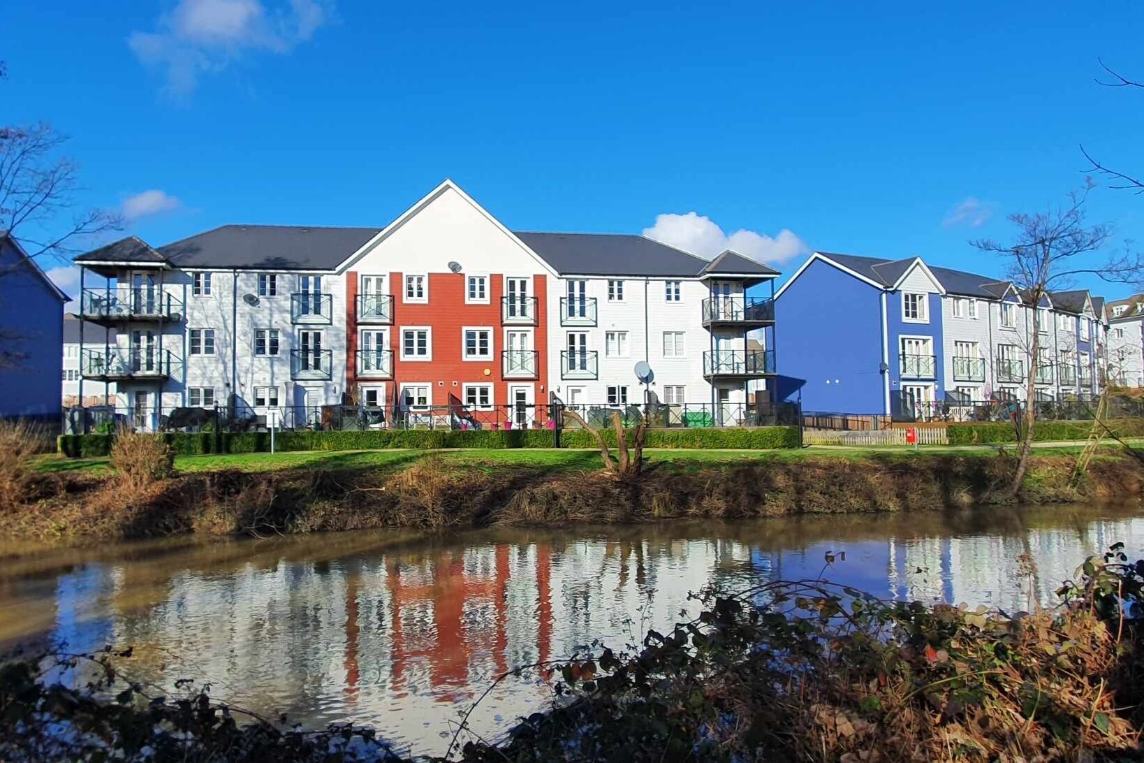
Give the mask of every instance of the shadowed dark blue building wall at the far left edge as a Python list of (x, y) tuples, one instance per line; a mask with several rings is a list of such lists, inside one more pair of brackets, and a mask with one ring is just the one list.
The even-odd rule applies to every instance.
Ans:
[(6, 352), (26, 356), (0, 366), (0, 416), (43, 416), (58, 421), (62, 403), (64, 310), (33, 269), (16, 267), (23, 255), (0, 243), (0, 326), (18, 339)]

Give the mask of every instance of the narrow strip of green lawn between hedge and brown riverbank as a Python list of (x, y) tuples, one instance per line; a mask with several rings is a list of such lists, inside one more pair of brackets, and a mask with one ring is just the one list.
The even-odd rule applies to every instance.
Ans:
[[(1016, 448), (1008, 445), (1009, 452)], [(1039, 455), (1073, 455), (1080, 451), (1080, 445), (1038, 446)], [(1114, 453), (1117, 448), (1106, 446), (1106, 452)], [(428, 451), (386, 450), (386, 451), (307, 451), (297, 453), (238, 453), (232, 455), (189, 455), (175, 459), (175, 468), (180, 471), (219, 471), (238, 469), (241, 471), (278, 471), (284, 469), (355, 469), (355, 468), (397, 468), (416, 459), (424, 458)], [(551, 471), (601, 468), (599, 453), (595, 450), (458, 450), (438, 451), (450, 461), (471, 464), (472, 468), (487, 470), (498, 464), (527, 466)], [(864, 459), (915, 459), (940, 454), (961, 454), (990, 456), (996, 453), (996, 447), (988, 445), (944, 446), (929, 445), (914, 451), (903, 446), (882, 447), (844, 447), (831, 445), (813, 445), (801, 450), (782, 451), (731, 451), (731, 450), (658, 450), (645, 452), (649, 461), (666, 462), (680, 469), (696, 468), (708, 463), (733, 463), (757, 461), (800, 461), (808, 458), (841, 458), (849, 460)], [(45, 472), (87, 471), (93, 474), (110, 470), (106, 459), (64, 459), (45, 456), (39, 468)]]

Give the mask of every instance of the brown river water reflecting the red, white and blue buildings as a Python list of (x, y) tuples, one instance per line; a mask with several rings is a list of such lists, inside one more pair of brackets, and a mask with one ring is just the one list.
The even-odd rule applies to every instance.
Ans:
[[(1027, 610), (1031, 595), (1052, 604), (1086, 555), (1117, 541), (1144, 555), (1139, 504), (174, 540), (7, 558), (0, 547), (0, 642), (132, 645), (132, 678), (168, 690), (194, 678), (265, 716), (367, 723), (404, 749), (444, 754), (495, 676), (667, 629), (706, 586), (823, 577), (882, 597)], [(1032, 579), (1018, 572), (1024, 553)], [(509, 678), (470, 728), (495, 737), (550, 698), (535, 674)]]

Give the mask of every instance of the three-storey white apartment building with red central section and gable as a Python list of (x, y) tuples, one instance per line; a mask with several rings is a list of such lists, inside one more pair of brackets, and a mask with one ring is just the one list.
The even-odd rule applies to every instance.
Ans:
[[(81, 340), (79, 394), (114, 382), (140, 427), (216, 405), (285, 426), (349, 405), (376, 427), (534, 427), (553, 396), (645, 394), (739, 423), (776, 371), (747, 334), (773, 333), (777, 271), (641, 236), (513, 232), (448, 181), (384, 228), (224, 225), (76, 262), (81, 325), (116, 328), (102, 351)], [(109, 280), (88, 287), (93, 272)]]

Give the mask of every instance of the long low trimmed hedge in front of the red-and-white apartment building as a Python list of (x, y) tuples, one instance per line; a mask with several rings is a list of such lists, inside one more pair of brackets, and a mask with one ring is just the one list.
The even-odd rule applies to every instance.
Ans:
[[(615, 432), (606, 430), (607, 442), (615, 444)], [(176, 455), (208, 453), (268, 453), (269, 432), (169, 432), (162, 437)], [(113, 435), (61, 435), (59, 453), (70, 458), (105, 456), (111, 453)], [(563, 447), (595, 447), (588, 432), (565, 429), (561, 435)], [(216, 450), (216, 446), (217, 447)], [(455, 429), (384, 429), (367, 431), (288, 431), (275, 435), (277, 451), (373, 451), (386, 448), (517, 448), (553, 447), (549, 429), (521, 429), (509, 431), (462, 431)], [(649, 429), (646, 447), (680, 448), (744, 448), (771, 450), (799, 447), (797, 427), (761, 427), (757, 429)]]

